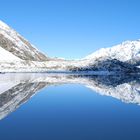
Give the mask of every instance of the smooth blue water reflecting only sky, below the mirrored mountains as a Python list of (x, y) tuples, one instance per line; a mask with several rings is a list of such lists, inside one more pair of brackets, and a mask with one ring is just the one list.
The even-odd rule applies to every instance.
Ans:
[(42, 89), (0, 121), (1, 140), (139, 140), (140, 106), (79, 84)]

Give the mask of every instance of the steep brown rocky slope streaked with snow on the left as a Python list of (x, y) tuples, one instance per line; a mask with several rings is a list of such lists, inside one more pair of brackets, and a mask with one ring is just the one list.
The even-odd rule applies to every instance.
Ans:
[(23, 60), (46, 61), (49, 59), (2, 21), (0, 21), (0, 47)]

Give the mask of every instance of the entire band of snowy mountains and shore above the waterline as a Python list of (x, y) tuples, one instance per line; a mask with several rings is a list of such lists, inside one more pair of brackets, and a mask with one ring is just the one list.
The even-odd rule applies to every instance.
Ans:
[(140, 40), (102, 48), (81, 60), (50, 58), (0, 21), (0, 72), (138, 72)]

